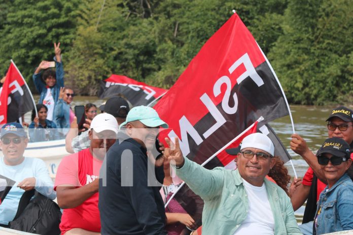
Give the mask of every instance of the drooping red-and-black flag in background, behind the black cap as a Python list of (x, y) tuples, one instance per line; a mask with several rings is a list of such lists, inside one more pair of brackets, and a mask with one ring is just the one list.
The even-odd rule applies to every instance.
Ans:
[(133, 105), (150, 105), (167, 90), (137, 82), (127, 76), (112, 74), (105, 80), (99, 98), (107, 99), (122, 94)]

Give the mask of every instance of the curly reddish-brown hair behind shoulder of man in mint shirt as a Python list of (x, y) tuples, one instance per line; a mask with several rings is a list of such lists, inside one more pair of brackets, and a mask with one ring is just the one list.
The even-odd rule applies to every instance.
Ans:
[(276, 164), (272, 167), (268, 176), (271, 177), (279, 187), (281, 187), (288, 195), (288, 184), (291, 181), (291, 176), (288, 174), (284, 162), (278, 156), (274, 156)]

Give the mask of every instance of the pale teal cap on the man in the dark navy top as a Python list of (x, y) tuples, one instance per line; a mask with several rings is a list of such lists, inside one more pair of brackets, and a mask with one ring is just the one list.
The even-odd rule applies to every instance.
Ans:
[(148, 127), (163, 127), (168, 128), (168, 125), (163, 122), (157, 111), (148, 106), (133, 107), (126, 116), (126, 121), (120, 124), (119, 129), (129, 122), (140, 121)]

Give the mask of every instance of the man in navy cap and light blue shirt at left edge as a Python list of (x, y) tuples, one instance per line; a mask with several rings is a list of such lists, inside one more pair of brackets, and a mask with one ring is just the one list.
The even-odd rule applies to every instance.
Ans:
[(23, 156), (28, 138), (21, 124), (5, 124), (0, 130), (0, 140), (4, 154), (0, 159), (0, 175), (16, 181), (17, 186), (12, 187), (0, 204), (0, 226), (7, 226), (16, 215), (24, 191), (34, 188), (51, 200), (56, 198), (56, 192), (45, 163)]

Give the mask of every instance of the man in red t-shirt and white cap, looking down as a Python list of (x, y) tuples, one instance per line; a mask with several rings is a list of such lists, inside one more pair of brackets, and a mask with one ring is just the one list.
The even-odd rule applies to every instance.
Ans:
[(65, 156), (56, 173), (54, 190), (62, 213), (62, 235), (100, 234), (98, 210), (99, 170), (105, 152), (115, 143), (118, 122), (108, 113), (92, 120), (89, 131), (90, 147)]

